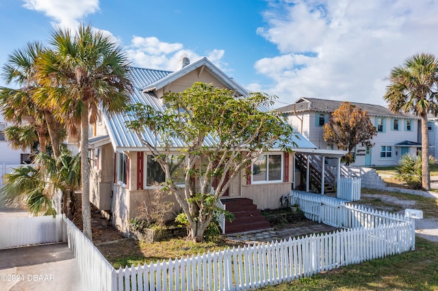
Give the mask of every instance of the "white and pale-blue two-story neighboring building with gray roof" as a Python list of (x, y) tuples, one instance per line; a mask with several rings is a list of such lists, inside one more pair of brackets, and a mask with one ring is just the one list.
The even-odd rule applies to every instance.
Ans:
[[(333, 144), (324, 141), (322, 126), (329, 122), (331, 113), (338, 109), (342, 102), (344, 101), (299, 98), (292, 105), (277, 110), (283, 112), (289, 124), (318, 148), (337, 149)], [(421, 150), (419, 117), (392, 113), (381, 105), (350, 103), (367, 111), (378, 132), (372, 139), (374, 147), (357, 146), (356, 161), (353, 165), (396, 165), (403, 154), (415, 155)]]

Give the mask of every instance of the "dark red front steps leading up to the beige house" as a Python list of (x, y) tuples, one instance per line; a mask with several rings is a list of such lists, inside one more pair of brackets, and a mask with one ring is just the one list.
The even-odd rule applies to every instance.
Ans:
[(232, 222), (226, 221), (225, 234), (236, 234), (240, 232), (253, 232), (256, 230), (267, 230), (272, 228), (270, 223), (261, 214), (261, 210), (248, 198), (222, 199), (226, 209), (234, 214)]

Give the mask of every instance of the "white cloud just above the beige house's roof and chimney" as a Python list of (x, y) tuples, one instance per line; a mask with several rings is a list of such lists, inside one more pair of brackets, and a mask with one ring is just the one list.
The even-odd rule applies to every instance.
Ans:
[[(179, 59), (182, 55), (186, 55), (191, 63), (204, 57), (185, 49), (183, 44), (162, 42), (156, 37), (133, 36), (131, 45), (127, 46), (125, 51), (134, 66), (171, 71), (179, 68)], [(224, 51), (219, 49), (209, 51), (205, 55), (216, 66), (222, 67), (222, 70), (227, 66), (222, 61), (223, 56)]]

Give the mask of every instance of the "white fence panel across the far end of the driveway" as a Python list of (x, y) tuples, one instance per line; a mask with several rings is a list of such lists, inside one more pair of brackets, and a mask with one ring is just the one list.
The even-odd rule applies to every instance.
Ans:
[(65, 241), (61, 215), (0, 219), (0, 249)]

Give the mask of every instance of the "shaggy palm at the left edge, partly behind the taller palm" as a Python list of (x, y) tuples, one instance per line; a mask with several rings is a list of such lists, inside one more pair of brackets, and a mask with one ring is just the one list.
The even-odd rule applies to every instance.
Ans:
[[(36, 79), (35, 62), (44, 50), (44, 46), (39, 42), (30, 42), (25, 48), (15, 50), (8, 56), (8, 61), (2, 68), (3, 79), (7, 84), (16, 83), (20, 87), (18, 89), (0, 87), (0, 105), (2, 105), (3, 117), (6, 121), (16, 124), (14, 130), (16, 133), (20, 131), (23, 141), (32, 138), (27, 126), (32, 125), (38, 135), (41, 152), (47, 151), (49, 144), (47, 134), (49, 134), (53, 153), (57, 157), (60, 154), (63, 126), (55, 120), (47, 104), (38, 105), (34, 99), (36, 90), (40, 89)], [(22, 125), (22, 122), (25, 125)], [(10, 140), (12, 146), (18, 148), (25, 146), (25, 143), (17, 144), (14, 139)]]

